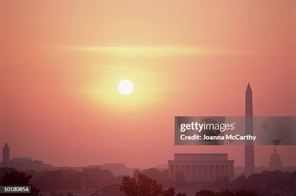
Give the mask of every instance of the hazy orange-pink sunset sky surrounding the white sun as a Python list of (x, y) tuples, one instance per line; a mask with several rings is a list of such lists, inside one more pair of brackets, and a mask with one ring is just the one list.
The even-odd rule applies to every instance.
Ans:
[[(1, 0), (0, 145), (55, 166), (194, 152), (242, 166), (243, 146), (174, 146), (174, 116), (243, 116), (248, 82), (254, 115), (295, 116), (295, 21), (293, 0)], [(256, 149), (266, 166), (273, 147)]]

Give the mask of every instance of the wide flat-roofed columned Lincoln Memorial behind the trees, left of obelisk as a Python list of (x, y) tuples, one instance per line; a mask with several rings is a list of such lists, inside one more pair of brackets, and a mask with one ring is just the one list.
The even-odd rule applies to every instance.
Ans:
[(214, 182), (218, 176), (233, 181), (234, 160), (228, 160), (228, 154), (174, 154), (174, 159), (168, 160), (173, 180), (182, 171), (187, 182)]

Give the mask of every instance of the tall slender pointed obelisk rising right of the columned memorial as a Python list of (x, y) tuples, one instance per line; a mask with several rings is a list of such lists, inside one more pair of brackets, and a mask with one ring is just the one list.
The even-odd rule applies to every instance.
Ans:
[[(245, 135), (253, 136), (253, 105), (252, 105), (252, 89), (250, 83), (246, 89), (246, 105), (245, 105)], [(249, 176), (255, 172), (254, 160), (254, 142), (253, 140), (245, 140), (245, 175)]]

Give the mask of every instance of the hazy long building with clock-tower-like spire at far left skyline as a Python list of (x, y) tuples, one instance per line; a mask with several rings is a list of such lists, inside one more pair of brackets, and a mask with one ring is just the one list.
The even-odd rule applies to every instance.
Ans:
[(44, 164), (42, 161), (32, 160), (31, 158), (13, 158), (10, 160), (10, 148), (7, 142), (5, 142), (3, 147), (3, 156), (0, 167), (15, 168), (17, 170), (31, 169), (35, 171), (41, 171), (45, 169), (52, 170), (54, 168), (53, 165)]

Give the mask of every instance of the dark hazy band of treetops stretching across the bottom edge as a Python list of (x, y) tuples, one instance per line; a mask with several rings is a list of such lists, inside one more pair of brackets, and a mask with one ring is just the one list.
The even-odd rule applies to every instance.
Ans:
[[(133, 177), (114, 176), (110, 170), (85, 168), (83, 171), (59, 169), (53, 171), (17, 171), (14, 168), (0, 168), (0, 185), (30, 185), (31, 195), (39, 196), (40, 190), (52, 191), (61, 189), (101, 189), (108, 185), (121, 184), (134, 190), (138, 196), (186, 196), (176, 193), (175, 188), (188, 188), (192, 184), (186, 182), (183, 172), (176, 173), (176, 180), (168, 177), (168, 170), (159, 171), (155, 168), (143, 171), (135, 170)], [(193, 186), (194, 187), (194, 186)], [(226, 177), (218, 177), (210, 183), (208, 190), (201, 190), (196, 196), (271, 196), (272, 189), (296, 188), (296, 171), (263, 171), (248, 178), (238, 176), (233, 182)], [(212, 191), (216, 189), (220, 191)], [(130, 190), (120, 187), (125, 196), (134, 196)], [(105, 193), (112, 194), (110, 190)], [(62, 196), (54, 195), (52, 196)], [(21, 196), (21, 195), (19, 195)], [(26, 195), (28, 196), (28, 194)], [(70, 195), (69, 195), (70, 196)], [(97, 195), (98, 196), (98, 195)]]

